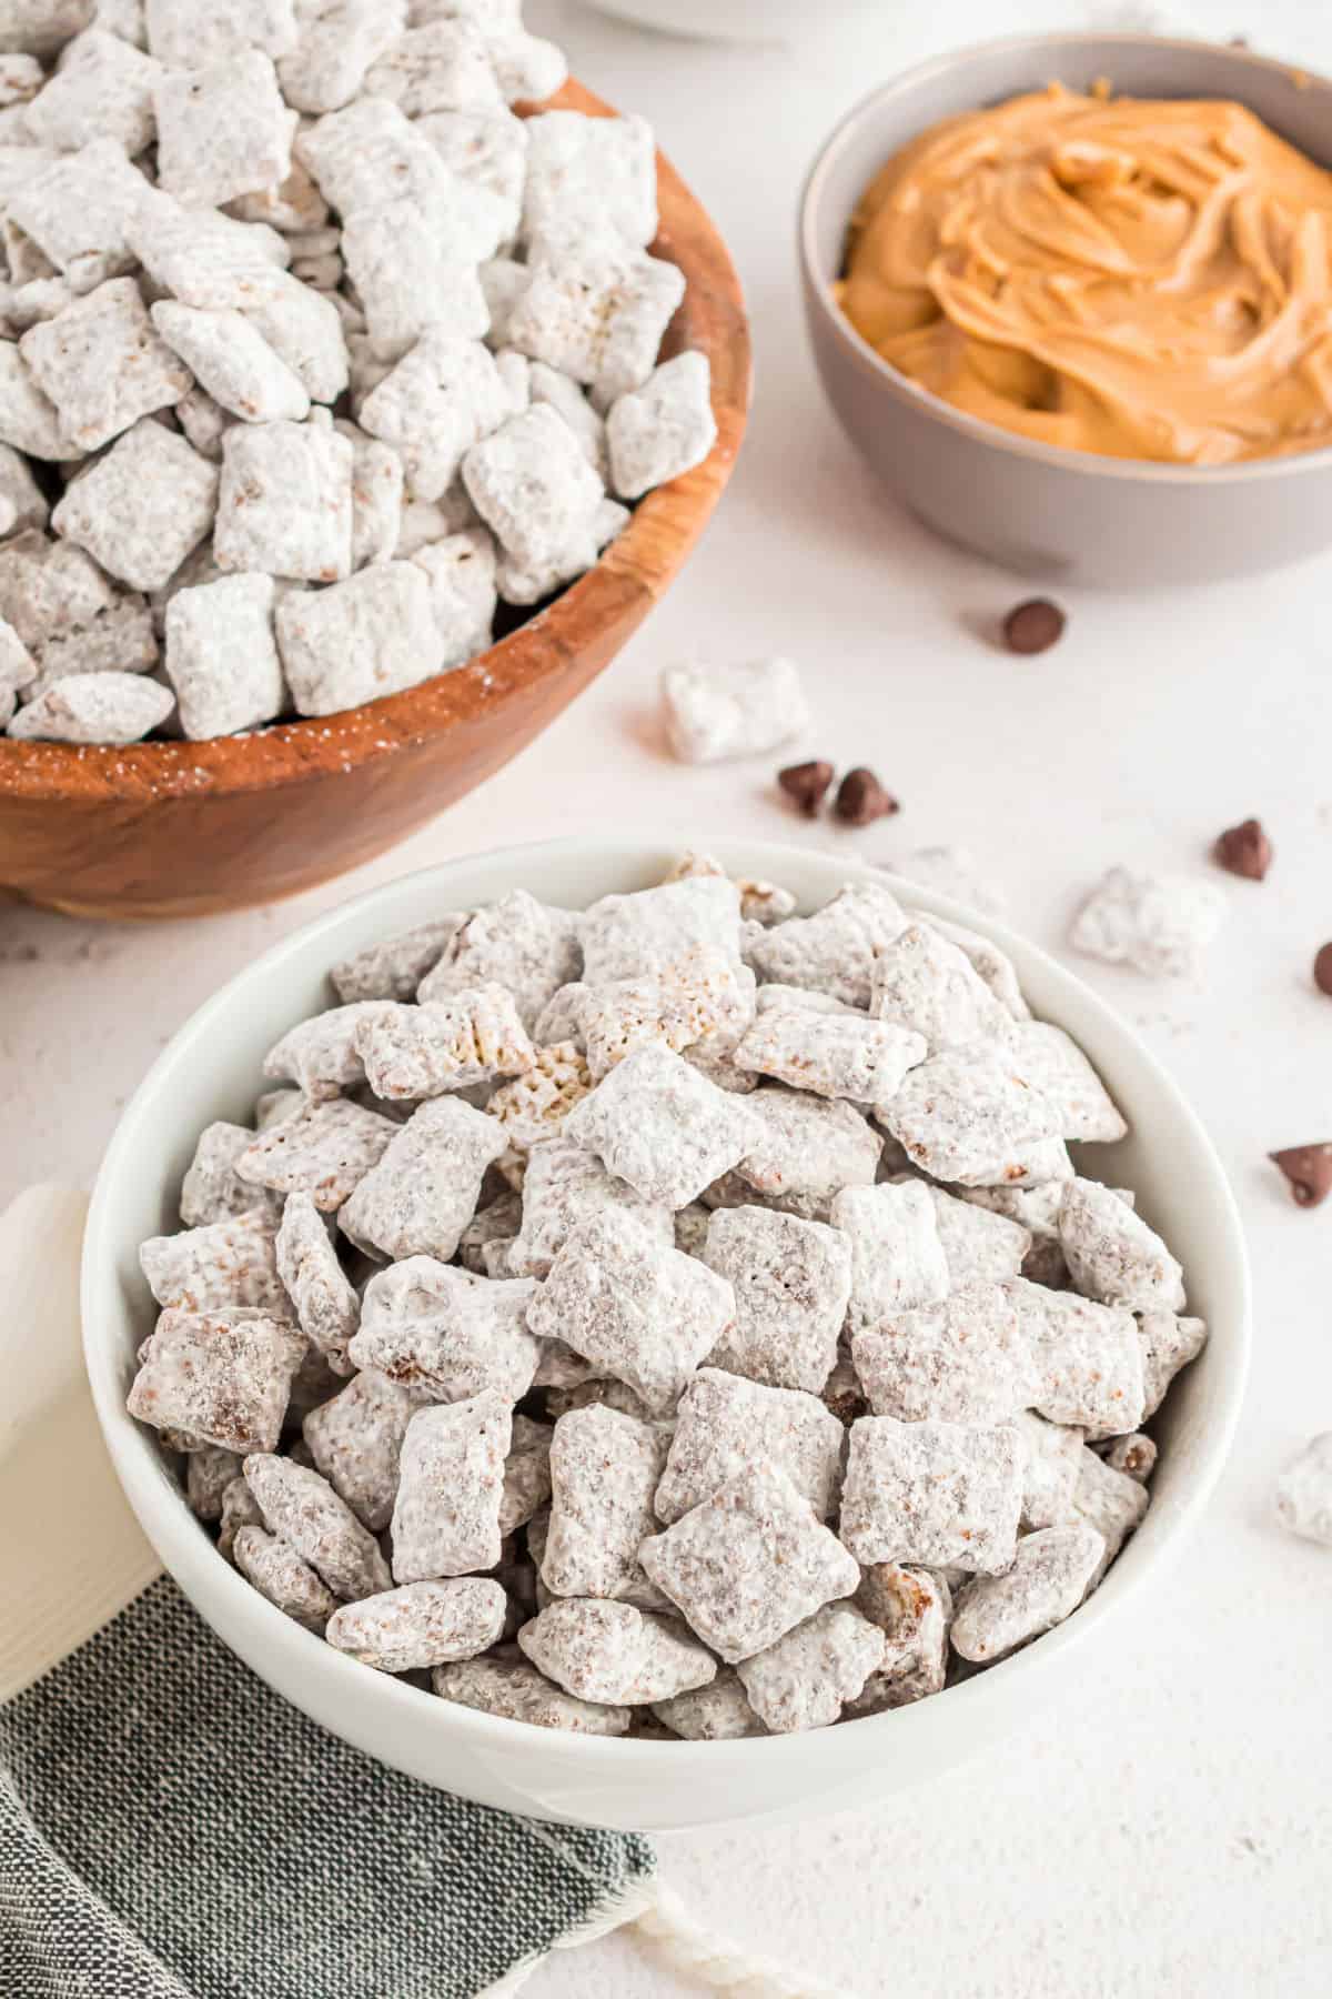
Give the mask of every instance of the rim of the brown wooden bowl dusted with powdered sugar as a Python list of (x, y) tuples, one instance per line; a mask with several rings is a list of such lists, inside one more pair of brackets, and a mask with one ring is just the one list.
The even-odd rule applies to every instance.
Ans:
[[(579, 110), (613, 118), (583, 84), (569, 78), (547, 104), (515, 106)], [(587, 634), (611, 622), (627, 598), (657, 596), (683, 550), (717, 502), (739, 450), (751, 396), (751, 338), (741, 282), (711, 216), (657, 152), (661, 230), (651, 246), (685, 272), (681, 312), (689, 314), (689, 346), (709, 358), (717, 442), (703, 464), (637, 502), (627, 526), (577, 582), (543, 612), (465, 666), (333, 716), (302, 716), (254, 734), (136, 744), (56, 744), (0, 734), (0, 794), (34, 804), (78, 800), (120, 802), (240, 796), (274, 786), (316, 782), (333, 768), (355, 770), (379, 756), (445, 734), (479, 708), (531, 686), (551, 662), (567, 660)], [(681, 550), (683, 544), (683, 550)]]

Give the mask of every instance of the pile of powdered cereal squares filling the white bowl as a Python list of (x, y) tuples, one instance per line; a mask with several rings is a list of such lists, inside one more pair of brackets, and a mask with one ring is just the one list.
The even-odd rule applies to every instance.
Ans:
[(1100, 1583), (1206, 1327), (995, 944), (687, 856), (441, 912), (330, 1001), (142, 1247), (130, 1411), (274, 1605), (713, 1741), (939, 1693)]

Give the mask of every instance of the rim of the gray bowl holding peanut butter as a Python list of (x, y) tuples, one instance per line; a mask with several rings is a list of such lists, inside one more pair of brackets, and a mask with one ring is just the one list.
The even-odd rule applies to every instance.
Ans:
[(867, 92), (867, 96), (859, 98), (851, 110), (837, 120), (815, 154), (815, 160), (805, 176), (805, 186), (801, 188), (797, 232), (807, 296), (817, 302), (825, 322), (833, 328), (851, 356), (861, 366), (869, 368), (897, 402), (905, 402), (923, 416), (929, 416), (939, 424), (947, 424), (951, 430), (961, 432), (965, 438), (973, 438), (977, 444), (989, 444), (993, 450), (1010, 452), (1016, 458), (1034, 458), (1044, 466), (1062, 468), (1064, 472), (1084, 472), (1102, 480), (1146, 480), (1152, 486), (1222, 486), (1248, 480), (1294, 478), (1296, 474), (1306, 472), (1326, 472), (1328, 466), (1332, 466), (1332, 446), (1326, 444), (1316, 452), (1286, 452), (1274, 458), (1244, 458), (1230, 466), (1170, 466), (1160, 464), (1154, 458), (1108, 458), (1100, 452), (1078, 452), (1072, 446), (1042, 444), (1038, 438), (1024, 438), (1014, 430), (1004, 430), (1002, 424), (991, 424), (985, 416), (971, 416), (967, 410), (955, 408), (951, 402), (945, 402), (943, 396), (935, 396), (931, 390), (921, 388), (919, 382), (913, 382), (911, 376), (901, 374), (891, 362), (885, 362), (883, 354), (879, 354), (863, 334), (857, 332), (841, 306), (837, 306), (829, 296), (815, 244), (823, 184), (841, 148), (881, 110), (883, 104), (889, 104), (895, 98), (909, 98), (923, 84), (929, 84), (937, 76), (947, 76), (949, 70), (965, 68), (979, 56), (1000, 56), (1006, 52), (1034, 54), (1036, 50), (1058, 52), (1080, 48), (1086, 42), (1096, 42), (1098, 46), (1118, 44), (1120, 48), (1162, 50), (1168, 54), (1192, 54), (1198, 48), (1206, 48), (1210, 54), (1234, 58), (1240, 68), (1272, 70), (1288, 78), (1300, 74), (1306, 78), (1302, 88), (1332, 94), (1332, 76), (1324, 76), (1318, 70), (1306, 70), (1300, 64), (1282, 62), (1280, 56), (1260, 56), (1256, 50), (1238, 44), (1208, 42), (1204, 36), (1134, 34), (1132, 30), (1106, 30), (1104, 34), (1098, 34), (1094, 28), (1086, 28), (1082, 32), (1064, 28), (1054, 34), (995, 36), (987, 42), (967, 42), (963, 48), (951, 48), (941, 56), (931, 56), (927, 62), (913, 64), (911, 70), (903, 70), (887, 84), (879, 84), (875, 90)]

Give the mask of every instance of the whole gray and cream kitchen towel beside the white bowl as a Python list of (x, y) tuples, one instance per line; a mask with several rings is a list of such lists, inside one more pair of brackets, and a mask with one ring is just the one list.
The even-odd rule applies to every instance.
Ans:
[(160, 1573), (78, 1345), (86, 1201), (0, 1215), (2, 1999), (475, 1999), (661, 1893), (288, 1707)]

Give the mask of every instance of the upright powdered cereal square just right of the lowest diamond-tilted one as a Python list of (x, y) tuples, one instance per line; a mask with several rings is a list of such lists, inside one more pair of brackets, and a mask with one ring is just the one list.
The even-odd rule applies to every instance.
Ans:
[(1016, 1547), (1022, 1441), (1010, 1423), (851, 1425), (841, 1537), (857, 1561), (999, 1575)]

